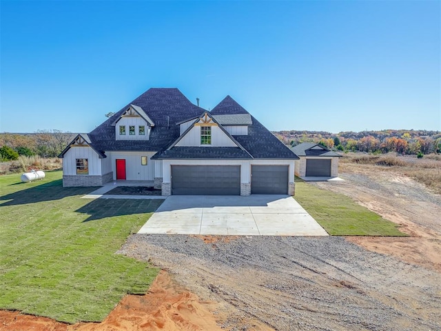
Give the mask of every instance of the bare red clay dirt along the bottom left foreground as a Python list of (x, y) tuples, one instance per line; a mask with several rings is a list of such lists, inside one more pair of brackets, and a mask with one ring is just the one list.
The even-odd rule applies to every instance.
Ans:
[(101, 323), (69, 325), (45, 317), (0, 310), (1, 331), (222, 330), (215, 303), (201, 301), (161, 271), (145, 295), (126, 295)]

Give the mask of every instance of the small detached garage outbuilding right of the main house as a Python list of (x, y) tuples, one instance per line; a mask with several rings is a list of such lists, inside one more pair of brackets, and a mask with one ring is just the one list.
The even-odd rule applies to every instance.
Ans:
[(318, 143), (300, 143), (291, 148), (300, 158), (294, 161), (298, 177), (338, 177), (338, 158), (342, 155)]

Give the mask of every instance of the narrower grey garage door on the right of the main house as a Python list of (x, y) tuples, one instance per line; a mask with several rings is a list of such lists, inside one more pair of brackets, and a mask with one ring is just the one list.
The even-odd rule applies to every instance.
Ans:
[(288, 194), (288, 165), (252, 165), (251, 194)]

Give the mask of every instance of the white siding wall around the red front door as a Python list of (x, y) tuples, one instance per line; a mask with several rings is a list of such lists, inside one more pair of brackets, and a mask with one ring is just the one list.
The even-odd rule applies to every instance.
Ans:
[[(152, 181), (154, 179), (154, 160), (156, 152), (106, 152), (111, 160), (113, 179), (116, 180), (116, 160), (125, 160), (125, 179), (127, 181)], [(147, 165), (141, 164), (141, 157), (147, 157)]]

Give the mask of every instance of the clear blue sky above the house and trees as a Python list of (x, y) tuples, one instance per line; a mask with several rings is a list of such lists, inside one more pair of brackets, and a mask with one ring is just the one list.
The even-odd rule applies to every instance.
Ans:
[(0, 6), (0, 132), (89, 132), (151, 87), (269, 130), (441, 130), (441, 1)]

